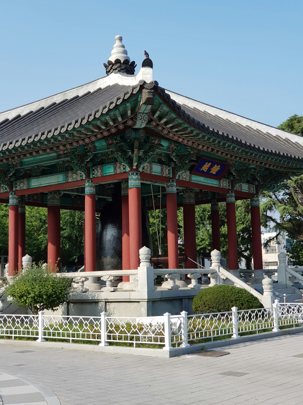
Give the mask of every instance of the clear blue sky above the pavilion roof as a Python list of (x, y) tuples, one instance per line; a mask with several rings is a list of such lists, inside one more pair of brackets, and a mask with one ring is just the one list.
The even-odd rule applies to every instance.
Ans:
[(0, 111), (105, 75), (114, 37), (168, 90), (265, 124), (303, 114), (302, 0), (2, 0)]

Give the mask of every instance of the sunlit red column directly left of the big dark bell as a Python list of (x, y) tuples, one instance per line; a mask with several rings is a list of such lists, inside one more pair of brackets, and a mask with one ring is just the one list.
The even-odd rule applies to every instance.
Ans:
[(91, 179), (85, 180), (85, 271), (96, 271), (96, 190)]

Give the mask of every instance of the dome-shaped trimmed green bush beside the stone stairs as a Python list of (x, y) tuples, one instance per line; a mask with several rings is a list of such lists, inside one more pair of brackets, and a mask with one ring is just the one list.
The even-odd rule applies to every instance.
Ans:
[(196, 313), (225, 312), (231, 311), (232, 307), (239, 310), (264, 308), (250, 292), (227, 285), (204, 288), (193, 301), (193, 310)]

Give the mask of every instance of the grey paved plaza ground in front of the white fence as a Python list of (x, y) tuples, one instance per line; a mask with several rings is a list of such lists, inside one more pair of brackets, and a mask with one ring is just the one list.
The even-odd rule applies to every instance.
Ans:
[(62, 405), (303, 403), (303, 334), (218, 350), (230, 354), (168, 359), (2, 341), (0, 372), (34, 379)]

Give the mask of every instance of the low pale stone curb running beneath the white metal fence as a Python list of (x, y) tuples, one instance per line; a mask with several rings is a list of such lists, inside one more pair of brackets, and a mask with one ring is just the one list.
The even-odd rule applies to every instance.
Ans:
[[(47, 347), (47, 348), (57, 348), (57, 349), (65, 349), (65, 350), (82, 350), (86, 352), (99, 352), (99, 353), (110, 353), (110, 354), (135, 354), (137, 356), (151, 356), (151, 357), (162, 357), (162, 358), (171, 358), (182, 356), (183, 354), (193, 354), (198, 352), (199, 350), (208, 350), (214, 347), (223, 347), (223, 346), (231, 346), (231, 345), (238, 345), (240, 343), (252, 342), (252, 341), (259, 341), (263, 339), (270, 339), (273, 337), (280, 337), (280, 336), (288, 336), (288, 335), (296, 335), (297, 333), (303, 333), (303, 326), (299, 326), (298, 328), (289, 328), (278, 330), (277, 332), (264, 332), (259, 333), (258, 335), (248, 335), (248, 336), (241, 336), (237, 339), (223, 339), (223, 340), (216, 340), (213, 342), (206, 342), (206, 343), (198, 343), (190, 345), (189, 347), (177, 347), (177, 349), (173, 350), (163, 350), (163, 349), (149, 349), (144, 347), (124, 347), (124, 346), (99, 346), (99, 345), (89, 345), (89, 344), (80, 344), (80, 343), (64, 343), (64, 342), (36, 342), (36, 341), (26, 341), (26, 340), (10, 340), (10, 339), (1, 339), (0, 345), (11, 345), (11, 346), (32, 346), (32, 347)], [(1, 372), (1, 370), (0, 370)], [(4, 372), (5, 373), (5, 372)], [(9, 374), (9, 373), (6, 373)], [(14, 375), (15, 376), (15, 375)], [(24, 377), (21, 377), (25, 382)], [(32, 384), (32, 383), (29, 383)], [(35, 386), (34, 384), (32, 384)], [(37, 388), (35, 386), (35, 388)], [(37, 388), (39, 389), (39, 388)], [(50, 391), (51, 392), (51, 391)], [(55, 395), (55, 394), (53, 394)], [(59, 404), (59, 403), (58, 403)], [(0, 403), (0, 405), (2, 405)], [(50, 403), (49, 405), (53, 405)], [(54, 403), (57, 405), (57, 403)]]

